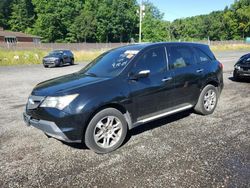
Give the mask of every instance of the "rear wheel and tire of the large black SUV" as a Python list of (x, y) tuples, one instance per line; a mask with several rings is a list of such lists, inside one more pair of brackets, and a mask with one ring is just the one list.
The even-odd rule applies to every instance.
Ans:
[(212, 114), (218, 102), (218, 90), (213, 85), (207, 85), (201, 92), (198, 102), (194, 107), (196, 113), (201, 115)]

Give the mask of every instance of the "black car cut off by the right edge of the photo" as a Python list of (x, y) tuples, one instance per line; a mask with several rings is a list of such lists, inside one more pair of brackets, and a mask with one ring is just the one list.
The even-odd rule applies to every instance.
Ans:
[(242, 77), (250, 78), (250, 53), (243, 55), (234, 65), (234, 79), (239, 80)]

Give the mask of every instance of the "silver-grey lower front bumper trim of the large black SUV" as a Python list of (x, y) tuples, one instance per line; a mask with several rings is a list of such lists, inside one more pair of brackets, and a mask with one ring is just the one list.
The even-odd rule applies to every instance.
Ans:
[(23, 119), (28, 126), (36, 127), (37, 129), (42, 130), (47, 135), (54, 137), (58, 140), (68, 142), (68, 143), (80, 143), (81, 140), (71, 140), (69, 139), (64, 132), (56, 125), (53, 121), (39, 120), (32, 118), (27, 113), (23, 113)]

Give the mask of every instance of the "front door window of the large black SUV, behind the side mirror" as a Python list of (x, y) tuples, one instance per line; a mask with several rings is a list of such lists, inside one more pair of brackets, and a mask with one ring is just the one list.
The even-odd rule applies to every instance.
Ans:
[(146, 51), (135, 63), (134, 72), (150, 70), (151, 74), (162, 72), (167, 67), (165, 48), (158, 47)]

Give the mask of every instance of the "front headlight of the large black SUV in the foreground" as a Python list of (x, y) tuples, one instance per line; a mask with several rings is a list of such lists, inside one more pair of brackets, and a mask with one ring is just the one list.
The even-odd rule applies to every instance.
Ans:
[(40, 107), (57, 108), (63, 110), (68, 106), (79, 94), (66, 95), (59, 97), (46, 97)]

